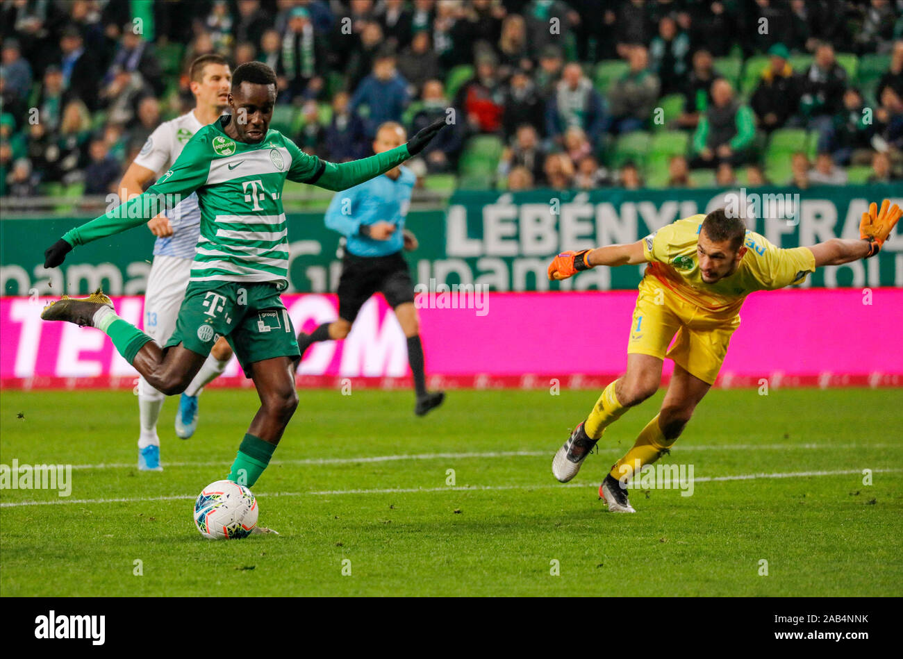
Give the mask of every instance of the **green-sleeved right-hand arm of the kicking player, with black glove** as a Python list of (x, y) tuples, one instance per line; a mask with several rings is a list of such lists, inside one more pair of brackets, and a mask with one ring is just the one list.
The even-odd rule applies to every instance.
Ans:
[[(348, 190), (359, 183), (388, 172), (423, 151), (424, 146), (430, 143), (443, 125), (445, 125), (444, 117), (436, 119), (432, 124), (418, 131), (414, 137), (408, 140), (407, 144), (396, 146), (394, 149), (371, 155), (368, 158), (339, 163), (320, 160), (319, 166), (312, 175), (307, 169), (307, 163), (310, 162), (312, 156), (303, 154), (300, 150), (295, 152), (294, 149), (297, 149), (297, 146), (292, 144), (294, 149), (290, 147), (290, 151), (296, 163), (293, 162), (288, 178), (290, 181), (310, 183), (326, 190)], [(288, 143), (287, 140), (286, 142)]]

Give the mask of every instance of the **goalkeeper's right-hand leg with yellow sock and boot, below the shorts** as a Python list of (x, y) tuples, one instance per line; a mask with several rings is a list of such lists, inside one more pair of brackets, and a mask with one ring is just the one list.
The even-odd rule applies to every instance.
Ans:
[(658, 414), (647, 423), (633, 448), (615, 463), (599, 487), (599, 496), (605, 499), (610, 511), (635, 512), (627, 497), (628, 480), (639, 469), (652, 464), (670, 450), (684, 432), (696, 405), (711, 388), (712, 385), (675, 364), (674, 375)]

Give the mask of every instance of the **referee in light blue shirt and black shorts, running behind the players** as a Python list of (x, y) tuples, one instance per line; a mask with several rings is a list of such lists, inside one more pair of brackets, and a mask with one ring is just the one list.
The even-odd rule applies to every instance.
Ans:
[[(405, 144), (406, 139), (405, 129), (388, 121), (379, 126), (373, 151), (394, 149)], [(445, 394), (426, 391), (424, 346), (414, 307), (414, 282), (402, 255), (403, 249), (417, 246), (414, 234), (405, 231), (405, 214), (411, 203), (414, 181), (414, 173), (399, 165), (332, 198), (326, 211), (326, 226), (338, 231), (347, 241), (339, 279), (339, 320), (324, 322), (312, 334), (299, 334), (298, 348), (303, 356), (312, 343), (344, 339), (364, 302), (375, 292), (382, 292), (407, 337), (407, 360), (417, 394), (414, 413), (423, 415), (442, 404)]]

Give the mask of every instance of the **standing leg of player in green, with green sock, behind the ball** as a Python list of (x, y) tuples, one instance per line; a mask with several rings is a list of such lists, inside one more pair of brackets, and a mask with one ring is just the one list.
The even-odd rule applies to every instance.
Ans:
[(260, 408), (241, 441), (228, 479), (253, 486), (273, 457), (285, 426), (298, 406), (294, 389), (293, 360), (289, 357), (263, 359), (250, 366)]

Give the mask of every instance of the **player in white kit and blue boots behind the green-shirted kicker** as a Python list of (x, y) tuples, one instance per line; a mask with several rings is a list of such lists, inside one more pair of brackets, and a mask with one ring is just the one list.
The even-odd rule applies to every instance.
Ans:
[[(119, 183), (120, 197), (128, 200), (139, 195), (176, 161), (182, 148), (205, 125), (212, 124), (228, 103), (232, 79), (228, 63), (219, 55), (202, 55), (191, 62), (191, 93), (196, 99), (191, 112), (157, 126), (147, 138), (135, 161)], [(191, 194), (169, 213), (161, 213), (147, 223), (154, 236), (154, 263), (144, 292), (144, 331), (160, 346), (172, 336), (175, 320), (185, 297), (194, 249), (200, 236), (198, 195)], [(225, 338), (219, 339), (207, 361), (182, 394), (175, 417), (176, 434), (183, 440), (193, 434), (198, 423), (198, 396), (204, 385), (219, 376), (232, 357)], [(159, 471), (160, 439), (157, 419), (165, 395), (149, 385), (144, 376), (138, 380), (138, 410), (141, 432), (138, 436), (138, 469)]]

